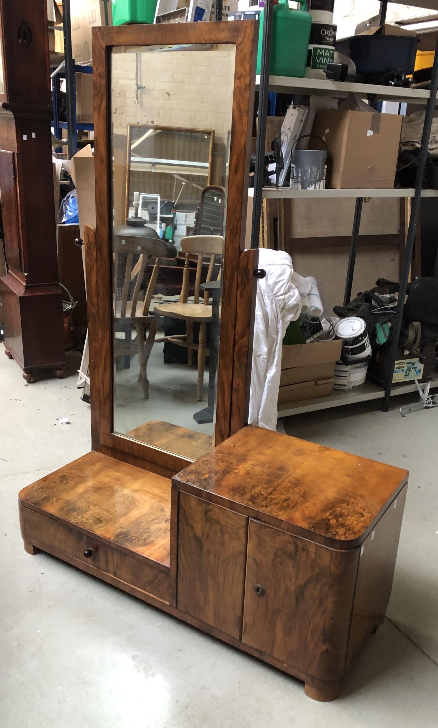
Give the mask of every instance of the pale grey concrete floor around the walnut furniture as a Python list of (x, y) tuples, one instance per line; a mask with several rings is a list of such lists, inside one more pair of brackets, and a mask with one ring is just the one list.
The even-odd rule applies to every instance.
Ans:
[[(26, 554), (17, 494), (89, 451), (68, 379), (25, 386), (0, 357), (2, 728), (432, 728), (438, 724), (438, 411), (375, 403), (285, 421), (287, 432), (410, 469), (389, 619), (343, 697), (303, 684), (49, 555)], [(57, 417), (71, 424), (60, 425)]]

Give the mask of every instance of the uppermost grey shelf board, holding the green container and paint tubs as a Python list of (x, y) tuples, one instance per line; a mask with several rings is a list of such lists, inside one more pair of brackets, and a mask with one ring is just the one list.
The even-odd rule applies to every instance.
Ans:
[[(255, 76), (256, 87), (260, 86), (260, 76)], [(330, 81), (330, 79), (298, 79), (295, 76), (270, 76), (269, 90), (277, 93), (298, 93), (309, 96), (337, 96), (343, 98), (349, 93), (357, 93), (367, 98), (376, 96), (380, 101), (410, 101), (425, 104), (430, 96), (429, 89), (407, 89), (377, 84), (360, 84), (350, 81)]]

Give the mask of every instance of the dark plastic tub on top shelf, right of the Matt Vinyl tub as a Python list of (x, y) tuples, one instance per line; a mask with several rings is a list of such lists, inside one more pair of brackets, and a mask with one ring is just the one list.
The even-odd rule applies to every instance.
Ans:
[(359, 76), (386, 74), (399, 68), (413, 74), (419, 38), (413, 36), (351, 36), (336, 43), (336, 50), (356, 65)]

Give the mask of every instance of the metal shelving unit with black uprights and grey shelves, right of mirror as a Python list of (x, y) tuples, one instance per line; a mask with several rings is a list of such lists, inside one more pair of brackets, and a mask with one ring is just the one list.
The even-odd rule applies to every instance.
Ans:
[[(408, 4), (408, 3), (405, 3)], [(423, 2), (422, 2), (423, 4)], [(381, 23), (385, 22), (386, 9), (388, 0), (381, 3)], [(421, 197), (438, 197), (437, 190), (423, 190), (423, 176), (426, 167), (426, 156), (429, 148), (429, 138), (431, 134), (431, 123), (434, 110), (437, 105), (438, 92), (438, 41), (434, 57), (434, 66), (431, 74), (430, 90), (424, 89), (407, 89), (399, 87), (378, 86), (375, 84), (359, 84), (350, 82), (333, 82), (328, 79), (295, 79), (289, 76), (270, 76), (269, 65), (271, 58), (271, 35), (272, 35), (272, 15), (274, 0), (265, 1), (265, 11), (263, 19), (263, 39), (261, 48), (261, 66), (260, 76), (257, 76), (256, 83), (259, 89), (258, 103), (258, 135), (255, 149), (255, 180), (254, 189), (250, 190), (253, 197), (252, 208), (252, 234), (251, 248), (258, 248), (260, 237), (260, 213), (261, 202), (263, 197), (282, 197), (295, 198), (306, 197), (307, 199), (314, 197), (352, 197), (356, 198), (356, 210), (354, 213), (354, 223), (351, 232), (351, 244), (349, 253), (349, 265), (346, 274), (346, 289), (344, 296), (344, 305), (351, 300), (351, 287), (354, 275), (354, 264), (356, 261), (357, 239), (359, 237), (360, 221), (362, 216), (362, 203), (367, 197), (412, 197), (410, 223), (407, 231), (407, 240), (405, 246), (405, 254), (403, 258), (402, 275), (400, 280), (399, 298), (397, 302), (397, 313), (392, 328), (391, 346), (389, 351), (389, 362), (386, 373), (385, 388), (375, 387), (367, 383), (364, 389), (357, 392), (334, 392), (330, 397), (324, 400), (307, 400), (306, 402), (296, 403), (296, 406), (287, 407), (283, 405), (279, 408), (279, 416), (287, 416), (290, 414), (298, 414), (298, 412), (312, 411), (320, 408), (330, 408), (351, 402), (359, 402), (370, 399), (383, 399), (382, 410), (388, 411), (389, 400), (391, 396), (402, 394), (405, 392), (414, 392), (415, 384), (403, 387), (392, 387), (392, 373), (394, 371), (394, 363), (397, 358), (397, 345), (399, 342), (400, 331), (402, 327), (402, 315), (405, 306), (405, 297), (407, 284), (410, 276), (410, 266), (413, 257), (413, 247), (415, 242), (415, 232), (418, 222), (418, 214), (420, 211)], [(434, 5), (429, 7), (434, 7)], [(390, 189), (390, 190), (319, 190), (319, 191), (303, 191), (282, 188), (263, 188), (263, 166), (264, 166), (264, 149), (266, 138), (266, 116), (268, 112), (268, 95), (269, 92), (297, 93), (300, 95), (335, 95), (343, 97), (350, 92), (362, 95), (373, 103), (381, 100), (398, 100), (400, 102), (410, 101), (412, 103), (421, 103), (426, 106), (426, 114), (423, 125), (423, 136), (421, 140), (421, 152), (418, 157), (417, 174), (415, 178), (415, 188), (413, 189)], [(306, 193), (306, 194), (303, 194)], [(438, 386), (438, 380), (434, 383)], [(369, 385), (369, 386), (368, 386)], [(372, 388), (372, 390), (370, 389)], [(348, 396), (351, 395), (351, 396)]]

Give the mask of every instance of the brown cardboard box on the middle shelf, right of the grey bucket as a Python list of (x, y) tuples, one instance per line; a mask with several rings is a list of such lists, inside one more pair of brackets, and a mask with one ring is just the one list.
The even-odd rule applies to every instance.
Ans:
[[(313, 133), (329, 149), (327, 188), (392, 189), (402, 116), (378, 111), (316, 111)], [(315, 148), (324, 149), (314, 141)]]

